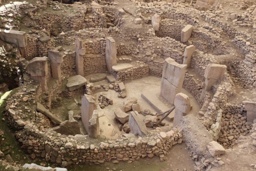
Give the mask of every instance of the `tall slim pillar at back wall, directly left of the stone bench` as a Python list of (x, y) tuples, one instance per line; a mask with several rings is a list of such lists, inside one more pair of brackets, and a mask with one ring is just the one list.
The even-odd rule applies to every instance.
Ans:
[(108, 72), (111, 73), (112, 66), (116, 65), (116, 41), (111, 37), (107, 38), (105, 57), (106, 57)]

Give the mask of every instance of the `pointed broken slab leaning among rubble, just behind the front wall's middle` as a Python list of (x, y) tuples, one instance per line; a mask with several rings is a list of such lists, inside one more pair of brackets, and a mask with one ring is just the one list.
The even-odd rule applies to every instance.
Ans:
[(138, 112), (131, 112), (129, 117), (129, 126), (131, 129), (131, 133), (134, 133), (135, 136), (147, 136), (147, 128), (143, 119), (140, 118), (140, 114)]

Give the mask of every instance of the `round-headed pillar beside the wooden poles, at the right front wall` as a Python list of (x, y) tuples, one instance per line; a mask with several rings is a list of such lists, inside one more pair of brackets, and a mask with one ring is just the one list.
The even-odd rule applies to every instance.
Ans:
[(183, 114), (189, 113), (191, 109), (189, 96), (183, 93), (176, 94), (174, 105), (175, 105), (175, 113), (174, 113), (174, 119), (173, 119), (173, 126), (175, 127), (176, 125), (179, 124)]

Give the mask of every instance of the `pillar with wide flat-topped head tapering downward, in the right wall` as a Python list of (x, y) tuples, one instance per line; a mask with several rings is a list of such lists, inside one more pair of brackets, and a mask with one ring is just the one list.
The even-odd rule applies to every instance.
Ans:
[(206, 91), (212, 89), (212, 85), (221, 79), (227, 69), (226, 65), (220, 64), (208, 64), (204, 73), (205, 77), (205, 87), (202, 90), (200, 100), (204, 99)]

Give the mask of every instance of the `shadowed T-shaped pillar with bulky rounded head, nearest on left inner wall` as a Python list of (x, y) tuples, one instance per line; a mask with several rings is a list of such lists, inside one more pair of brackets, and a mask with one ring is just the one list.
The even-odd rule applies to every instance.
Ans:
[(27, 65), (27, 72), (32, 79), (40, 82), (43, 91), (47, 91), (47, 57), (33, 58)]

